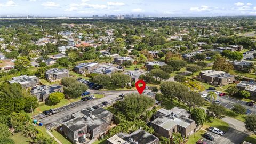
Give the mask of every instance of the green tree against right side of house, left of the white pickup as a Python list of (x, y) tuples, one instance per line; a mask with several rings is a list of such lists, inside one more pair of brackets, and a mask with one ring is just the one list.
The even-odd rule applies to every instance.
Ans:
[(195, 120), (197, 125), (203, 126), (206, 118), (206, 113), (202, 108), (194, 108), (191, 111), (191, 118)]

